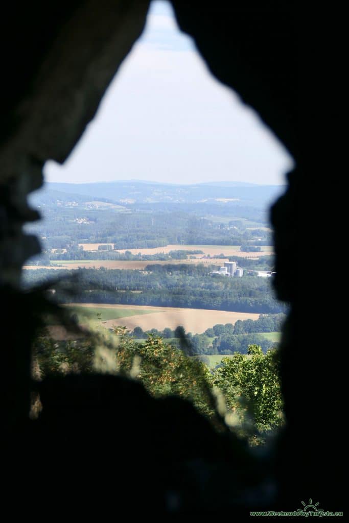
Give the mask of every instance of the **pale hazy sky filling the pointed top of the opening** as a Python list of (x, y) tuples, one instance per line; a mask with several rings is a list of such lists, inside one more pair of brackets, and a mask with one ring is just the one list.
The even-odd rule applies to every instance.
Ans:
[(125, 179), (283, 184), (292, 159), (256, 113), (207, 70), (172, 7), (153, 2), (147, 26), (97, 116), (48, 181)]

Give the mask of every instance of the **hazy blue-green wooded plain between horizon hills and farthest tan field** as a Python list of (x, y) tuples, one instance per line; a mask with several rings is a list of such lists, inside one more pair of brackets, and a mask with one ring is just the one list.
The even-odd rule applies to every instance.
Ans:
[[(217, 210), (218, 212), (218, 210)], [(27, 230), (41, 237), (44, 249), (77, 243), (112, 243), (116, 249), (154, 248), (168, 244), (271, 245), (263, 229), (237, 228), (182, 211), (115, 212), (49, 207), (44, 220)], [(233, 221), (234, 223), (234, 221)], [(263, 228), (264, 223), (260, 226)]]

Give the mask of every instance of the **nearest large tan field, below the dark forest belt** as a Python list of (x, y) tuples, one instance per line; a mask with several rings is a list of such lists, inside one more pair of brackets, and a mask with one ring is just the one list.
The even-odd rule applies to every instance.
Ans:
[[(130, 330), (133, 330), (134, 327), (141, 327), (143, 331), (148, 331), (151, 328), (162, 331), (165, 327), (175, 329), (178, 325), (183, 325), (186, 332), (192, 332), (193, 334), (200, 334), (217, 323), (234, 324), (237, 320), (257, 320), (260, 316), (259, 314), (247, 312), (151, 307), (148, 305), (71, 303), (69, 306), (72, 308), (78, 307), (80, 313), (82, 307), (93, 309), (93, 314), (96, 314), (98, 311), (103, 314), (104, 309), (115, 311), (115, 319), (102, 321), (102, 324), (108, 328), (112, 328), (114, 325), (125, 325)], [(110, 317), (109, 311), (108, 316)], [(120, 311), (123, 311), (121, 316)], [(139, 313), (137, 314), (136, 311), (139, 311)]]

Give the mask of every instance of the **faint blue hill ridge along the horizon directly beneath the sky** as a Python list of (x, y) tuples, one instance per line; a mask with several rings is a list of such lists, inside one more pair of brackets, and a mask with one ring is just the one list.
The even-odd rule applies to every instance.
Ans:
[(105, 198), (122, 203), (193, 203), (230, 200), (242, 205), (265, 208), (283, 191), (283, 186), (252, 185), (234, 182), (174, 185), (145, 181), (113, 181), (89, 184), (47, 183), (37, 195), (59, 191), (91, 199)]

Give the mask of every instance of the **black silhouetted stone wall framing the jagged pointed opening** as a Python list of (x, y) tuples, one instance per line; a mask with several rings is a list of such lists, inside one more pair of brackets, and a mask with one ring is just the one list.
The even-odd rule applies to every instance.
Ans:
[[(40, 313), (50, 305), (40, 292), (19, 290), (22, 263), (39, 251), (37, 239), (22, 232), (24, 223), (38, 218), (27, 195), (42, 184), (44, 162), (64, 162), (81, 137), (141, 34), (148, 4), (54, 0), (44, 9), (39, 2), (2, 6), (3, 507), (8, 504), (16, 513), (44, 508), (48, 519), (68, 506), (67, 513), (97, 510), (102, 517), (110, 506), (117, 517), (123, 506), (130, 513), (229, 510), (232, 519), (241, 519), (253, 509), (297, 510), (311, 497), (324, 510), (343, 510), (337, 480), (345, 444), (339, 434), (339, 364), (327, 357), (331, 347), (317, 337), (318, 323), (300, 333), (305, 325), (300, 304), (311, 304), (315, 286), (304, 290), (301, 300), (295, 270), (303, 4), (172, 2), (179, 26), (193, 36), (212, 74), (259, 113), (297, 164), (271, 211), (275, 288), (290, 305), (282, 340), (287, 425), (274, 448), (252, 453), (237, 438), (213, 429), (188, 403), (151, 399), (141, 385), (123, 378), (52, 377), (31, 383), (31, 340)], [(335, 60), (333, 34), (327, 32), (327, 63), (329, 56)], [(327, 97), (334, 98), (331, 75), (324, 81)], [(331, 157), (335, 151), (329, 141), (321, 153)], [(301, 209), (306, 220), (305, 205)], [(40, 390), (43, 404), (37, 420), (28, 418), (33, 388)]]

